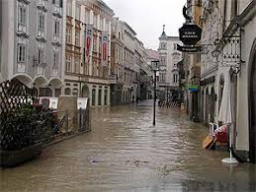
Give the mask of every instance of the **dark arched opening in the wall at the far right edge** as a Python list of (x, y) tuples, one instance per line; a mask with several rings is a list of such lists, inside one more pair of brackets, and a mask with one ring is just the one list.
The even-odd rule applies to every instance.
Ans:
[(248, 64), (249, 158), (256, 162), (256, 38), (253, 41)]

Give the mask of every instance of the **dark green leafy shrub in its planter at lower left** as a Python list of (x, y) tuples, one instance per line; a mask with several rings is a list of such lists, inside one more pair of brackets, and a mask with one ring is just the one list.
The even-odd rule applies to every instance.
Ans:
[(4, 112), (0, 118), (0, 166), (15, 166), (41, 154), (43, 119), (31, 103)]

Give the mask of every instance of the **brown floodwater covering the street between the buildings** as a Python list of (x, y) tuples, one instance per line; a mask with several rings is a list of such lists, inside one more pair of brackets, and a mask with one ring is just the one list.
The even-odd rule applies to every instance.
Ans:
[(92, 132), (0, 169), (1, 191), (255, 191), (256, 165), (223, 165), (202, 149), (209, 129), (177, 108), (152, 103), (92, 110)]

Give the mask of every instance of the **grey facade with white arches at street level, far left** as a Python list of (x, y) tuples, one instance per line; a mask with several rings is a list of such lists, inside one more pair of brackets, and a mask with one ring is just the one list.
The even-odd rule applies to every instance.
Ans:
[(63, 85), (62, 0), (1, 1), (1, 75), (19, 79), (39, 96), (59, 96)]

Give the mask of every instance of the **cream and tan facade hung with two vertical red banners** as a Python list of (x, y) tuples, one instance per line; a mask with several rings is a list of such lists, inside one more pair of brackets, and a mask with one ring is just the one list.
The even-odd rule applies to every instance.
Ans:
[(114, 12), (101, 0), (66, 3), (64, 94), (89, 97), (91, 106), (108, 106)]

